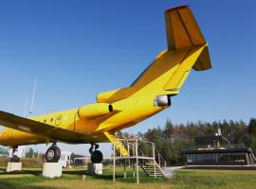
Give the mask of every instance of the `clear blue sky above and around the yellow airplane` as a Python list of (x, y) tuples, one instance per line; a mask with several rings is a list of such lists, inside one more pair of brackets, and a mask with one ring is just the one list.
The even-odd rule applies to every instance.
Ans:
[(163, 126), (167, 118), (247, 122), (256, 114), (253, 0), (1, 1), (0, 110), (23, 115), (35, 77), (32, 115), (94, 103), (96, 94), (130, 85), (166, 48), (163, 13), (180, 5), (191, 6), (212, 69), (193, 71), (170, 109), (126, 131)]

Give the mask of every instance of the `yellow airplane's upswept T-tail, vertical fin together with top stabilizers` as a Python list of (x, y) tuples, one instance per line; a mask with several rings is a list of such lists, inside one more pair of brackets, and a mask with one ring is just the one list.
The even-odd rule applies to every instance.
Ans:
[(178, 94), (192, 69), (211, 68), (208, 43), (188, 6), (165, 11), (167, 50), (128, 88), (98, 95), (98, 102), (114, 102), (144, 94)]

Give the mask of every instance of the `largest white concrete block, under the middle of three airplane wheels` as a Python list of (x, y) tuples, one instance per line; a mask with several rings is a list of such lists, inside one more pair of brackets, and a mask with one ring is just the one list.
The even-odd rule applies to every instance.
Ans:
[(62, 163), (44, 163), (43, 165), (43, 177), (46, 178), (59, 178), (62, 176), (63, 166)]

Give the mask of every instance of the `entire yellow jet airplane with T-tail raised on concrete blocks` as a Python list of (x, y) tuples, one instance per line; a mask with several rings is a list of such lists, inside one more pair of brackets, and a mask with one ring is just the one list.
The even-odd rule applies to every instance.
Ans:
[[(97, 143), (112, 142), (121, 155), (128, 155), (115, 133), (132, 127), (171, 106), (192, 69), (211, 68), (208, 43), (188, 6), (165, 11), (168, 48), (126, 88), (97, 95), (97, 103), (63, 112), (25, 118), (0, 112), (0, 145), (17, 146), (53, 143), (46, 151), (47, 162), (58, 162), (57, 142), (91, 144), (93, 163), (101, 163)], [(118, 141), (115, 142), (114, 141)]]

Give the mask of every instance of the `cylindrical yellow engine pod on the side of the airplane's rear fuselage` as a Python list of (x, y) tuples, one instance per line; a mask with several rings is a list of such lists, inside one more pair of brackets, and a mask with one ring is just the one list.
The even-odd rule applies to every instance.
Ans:
[(97, 103), (87, 106), (82, 106), (79, 111), (79, 117), (81, 119), (93, 119), (104, 116), (110, 112), (113, 112), (113, 107), (107, 103)]

